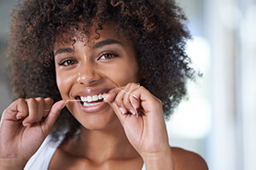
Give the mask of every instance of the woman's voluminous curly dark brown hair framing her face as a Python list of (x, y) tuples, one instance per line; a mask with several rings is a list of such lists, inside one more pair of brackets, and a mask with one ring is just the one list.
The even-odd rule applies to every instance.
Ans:
[[(61, 99), (55, 82), (54, 42), (79, 25), (97, 20), (96, 32), (112, 23), (133, 42), (140, 82), (163, 103), (165, 117), (186, 95), (195, 70), (185, 53), (190, 34), (187, 19), (174, 1), (165, 0), (25, 0), (15, 6), (9, 27), (9, 76), (17, 98)], [(100, 36), (98, 34), (98, 36)], [(98, 38), (98, 37), (96, 37)], [(52, 130), (73, 136), (79, 122), (64, 109)]]

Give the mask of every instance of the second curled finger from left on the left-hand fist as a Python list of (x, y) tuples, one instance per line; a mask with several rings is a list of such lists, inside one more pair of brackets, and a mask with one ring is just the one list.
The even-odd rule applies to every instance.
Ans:
[(38, 118), (38, 101), (36, 99), (26, 99), (26, 105), (28, 108), (28, 116), (24, 119), (22, 124), (26, 127), (28, 124), (32, 124), (37, 121)]

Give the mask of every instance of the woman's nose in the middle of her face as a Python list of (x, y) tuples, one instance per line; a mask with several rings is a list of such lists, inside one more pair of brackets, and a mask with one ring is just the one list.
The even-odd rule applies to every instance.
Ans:
[(77, 82), (90, 86), (102, 79), (101, 74), (96, 69), (96, 66), (90, 62), (84, 62), (79, 65), (79, 71), (77, 75)]

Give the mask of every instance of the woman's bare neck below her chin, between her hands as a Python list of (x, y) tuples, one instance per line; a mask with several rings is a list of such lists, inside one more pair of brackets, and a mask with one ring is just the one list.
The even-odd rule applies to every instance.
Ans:
[(81, 132), (72, 143), (76, 148), (76, 155), (96, 163), (114, 159), (133, 159), (139, 156), (126, 138), (120, 123), (104, 130), (88, 130), (81, 127)]

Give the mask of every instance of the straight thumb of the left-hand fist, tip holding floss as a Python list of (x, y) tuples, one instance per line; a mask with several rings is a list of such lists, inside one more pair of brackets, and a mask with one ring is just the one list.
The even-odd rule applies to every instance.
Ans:
[(61, 113), (61, 110), (65, 107), (66, 102), (64, 100), (60, 100), (52, 105), (48, 116), (45, 117), (44, 123), (42, 123), (44, 133), (48, 135), (51, 127), (54, 125), (55, 121), (57, 120), (58, 116)]

